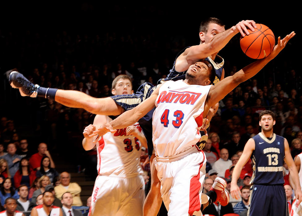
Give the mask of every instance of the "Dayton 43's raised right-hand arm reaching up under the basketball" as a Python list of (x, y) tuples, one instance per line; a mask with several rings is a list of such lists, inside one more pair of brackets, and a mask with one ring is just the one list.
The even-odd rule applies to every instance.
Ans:
[(266, 58), (257, 60), (252, 64), (244, 67), (233, 76), (224, 78), (222, 81), (212, 86), (208, 94), (208, 105), (214, 106), (223, 99), (230, 91), (232, 91), (241, 82), (248, 80), (256, 75), (267, 63), (269, 63), (279, 52), (286, 46), (287, 42), (295, 35), (295, 32), (286, 35), (282, 40), (278, 37), (278, 44), (274, 47), (274, 50)]

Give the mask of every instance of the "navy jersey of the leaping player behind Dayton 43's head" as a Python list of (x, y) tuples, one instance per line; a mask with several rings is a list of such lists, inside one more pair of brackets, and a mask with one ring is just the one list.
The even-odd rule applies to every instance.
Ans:
[[(165, 79), (160, 79), (157, 84), (160, 84), (164, 81), (168, 81), (168, 80), (173, 80), (173, 81), (177, 81), (177, 80), (184, 80), (185, 79), (185, 73), (186, 71), (182, 71), (182, 72), (178, 72), (175, 70), (175, 62), (176, 59), (178, 58), (178, 56), (181, 55), (181, 53), (185, 52), (185, 49), (187, 49), (189, 47), (184, 48), (181, 52), (179, 52), (175, 58), (174, 64), (173, 64), (173, 68), (170, 70), (170, 73), (168, 74), (168, 77)], [(213, 61), (211, 58), (206, 57), (205, 60), (211, 62), (211, 64), (214, 66), (215, 69), (215, 73), (216, 73), (216, 77), (215, 80), (213, 81), (213, 85), (215, 85), (216, 83), (218, 83), (221, 79), (221, 75), (222, 75), (222, 70), (223, 70), (223, 65), (224, 65), (224, 60), (222, 57), (216, 55), (215, 60)], [(220, 62), (220, 63), (217, 63)]]

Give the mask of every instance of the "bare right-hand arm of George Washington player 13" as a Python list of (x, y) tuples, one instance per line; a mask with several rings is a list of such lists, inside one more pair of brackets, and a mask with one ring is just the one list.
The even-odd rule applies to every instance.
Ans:
[(292, 183), (294, 183), (291, 186), (295, 190), (295, 196), (299, 200), (299, 204), (300, 204), (300, 202), (302, 201), (302, 191), (301, 191), (298, 171), (297, 171), (296, 165), (294, 163), (294, 160), (292, 160), (288, 142), (287, 142), (287, 139), (285, 139), (285, 138), (284, 138), (284, 152), (285, 152), (284, 162), (288, 166), (289, 175), (291, 177)]

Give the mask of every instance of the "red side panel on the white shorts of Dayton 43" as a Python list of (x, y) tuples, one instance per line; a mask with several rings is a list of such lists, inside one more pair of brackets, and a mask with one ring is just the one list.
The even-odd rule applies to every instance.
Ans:
[(195, 211), (200, 211), (200, 200), (199, 200), (199, 191), (201, 189), (200, 178), (200, 169), (203, 166), (203, 162), (199, 164), (198, 174), (191, 178), (190, 181), (190, 200), (189, 200), (189, 215), (193, 215)]

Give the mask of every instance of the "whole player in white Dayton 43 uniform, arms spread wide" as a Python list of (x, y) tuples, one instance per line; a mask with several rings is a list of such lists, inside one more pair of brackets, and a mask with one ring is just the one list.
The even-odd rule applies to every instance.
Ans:
[[(150, 98), (112, 122), (102, 125), (91, 137), (97, 134), (104, 135), (109, 131), (115, 133), (115, 129), (135, 123), (137, 119), (157, 106), (153, 115), (153, 122), (157, 118), (157, 123), (153, 127), (153, 145), (156, 154), (154, 163), (161, 181), (161, 194), (168, 209), (168, 215), (202, 215), (201, 192), (206, 159), (204, 153), (198, 151), (194, 143), (198, 137), (200, 138), (198, 127), (201, 124), (198, 124), (198, 116), (207, 113), (211, 106), (219, 102), (237, 85), (258, 73), (278, 55), (294, 35), (295, 33), (291, 32), (282, 40), (279, 37), (278, 44), (269, 56), (249, 64), (214, 86), (204, 87), (214, 79), (211, 64), (205, 60), (197, 61), (187, 70), (185, 81), (175, 82), (178, 88), (171, 81), (164, 83), (154, 90)], [(164, 91), (166, 91), (166, 96), (163, 97), (161, 94)], [(159, 126), (159, 124), (162, 125)], [(185, 124), (191, 125), (187, 127), (184, 126)], [(173, 138), (173, 143), (168, 142), (168, 145), (165, 145), (160, 140), (166, 139), (166, 135)], [(177, 137), (177, 135), (180, 136)]]

